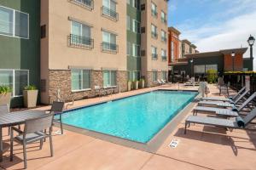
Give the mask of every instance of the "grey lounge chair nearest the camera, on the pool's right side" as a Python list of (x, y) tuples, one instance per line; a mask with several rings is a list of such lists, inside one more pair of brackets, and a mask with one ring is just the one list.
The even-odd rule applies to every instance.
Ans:
[(187, 127), (190, 126), (190, 123), (235, 129), (235, 128), (247, 127), (248, 123), (252, 122), (255, 117), (256, 117), (256, 108), (254, 108), (253, 111), (251, 111), (244, 118), (241, 118), (241, 116), (237, 116), (235, 121), (228, 120), (228, 119), (215, 118), (215, 117), (188, 116), (185, 122), (184, 133), (185, 134), (187, 133)]

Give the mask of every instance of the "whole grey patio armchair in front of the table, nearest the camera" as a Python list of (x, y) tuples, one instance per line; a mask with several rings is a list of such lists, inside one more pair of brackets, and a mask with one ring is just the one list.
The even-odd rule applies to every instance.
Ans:
[[(53, 145), (52, 145), (52, 123), (53, 114), (47, 114), (46, 116), (29, 119), (25, 122), (24, 131), (16, 127), (11, 127), (11, 138), (10, 138), (10, 161), (13, 161), (13, 150), (14, 140), (23, 144), (23, 156), (24, 156), (24, 167), (26, 168), (26, 144), (34, 143), (40, 140), (39, 149), (43, 147), (44, 139), (49, 137), (50, 156), (53, 156)], [(49, 129), (48, 133), (45, 133), (45, 129)], [(19, 133), (19, 136), (14, 137), (14, 131)]]

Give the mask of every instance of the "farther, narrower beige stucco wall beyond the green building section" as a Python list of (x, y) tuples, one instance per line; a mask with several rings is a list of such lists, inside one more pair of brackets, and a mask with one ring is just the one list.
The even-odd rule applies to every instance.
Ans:
[[(151, 2), (157, 5), (157, 13), (158, 17), (155, 18), (151, 14)], [(142, 11), (142, 26), (146, 27), (146, 34), (142, 34), (142, 42), (146, 44), (142, 44), (142, 49), (146, 50), (146, 56), (143, 57), (143, 76), (146, 75), (147, 71), (167, 71), (168, 70), (168, 61), (162, 61), (161, 59), (161, 49), (166, 49), (167, 54), (167, 42), (161, 42), (161, 30), (166, 31), (168, 33), (167, 25), (161, 22), (161, 10), (163, 10), (167, 14), (167, 3), (166, 1), (159, 0), (143, 0), (142, 4), (146, 4), (146, 10)], [(151, 37), (151, 24), (157, 26), (158, 38), (154, 39)], [(151, 55), (151, 47), (154, 46), (157, 48), (158, 59), (153, 60)]]

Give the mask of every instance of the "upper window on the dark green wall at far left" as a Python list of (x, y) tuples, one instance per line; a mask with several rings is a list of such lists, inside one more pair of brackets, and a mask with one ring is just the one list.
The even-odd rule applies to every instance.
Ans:
[(0, 34), (29, 38), (29, 14), (0, 6)]

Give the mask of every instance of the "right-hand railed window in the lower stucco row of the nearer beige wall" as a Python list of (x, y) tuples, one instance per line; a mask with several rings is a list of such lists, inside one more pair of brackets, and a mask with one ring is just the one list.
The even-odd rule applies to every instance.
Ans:
[(108, 31), (102, 31), (102, 51), (117, 52), (116, 35)]

